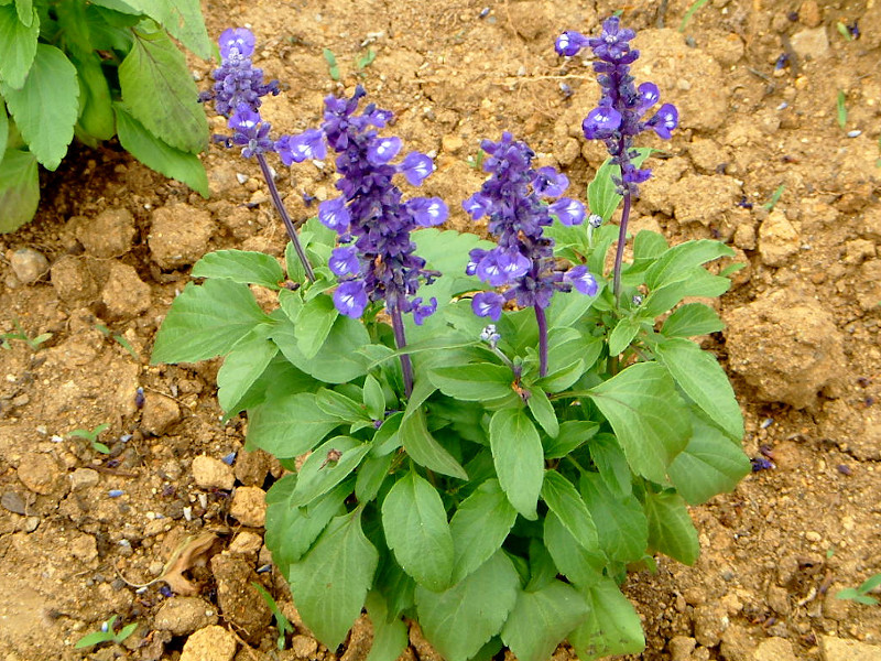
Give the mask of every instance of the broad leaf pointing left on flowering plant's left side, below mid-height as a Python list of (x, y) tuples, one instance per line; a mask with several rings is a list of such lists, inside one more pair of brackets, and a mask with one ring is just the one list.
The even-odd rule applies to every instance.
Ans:
[(268, 399), (248, 412), (247, 447), (289, 459), (311, 451), (337, 426), (339, 420), (318, 409), (311, 392)]

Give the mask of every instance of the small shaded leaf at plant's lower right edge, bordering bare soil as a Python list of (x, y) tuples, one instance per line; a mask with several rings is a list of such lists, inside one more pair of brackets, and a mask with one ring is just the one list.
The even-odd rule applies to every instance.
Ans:
[(700, 553), (695, 530), (683, 497), (674, 491), (645, 494), (649, 545), (683, 564), (694, 564)]

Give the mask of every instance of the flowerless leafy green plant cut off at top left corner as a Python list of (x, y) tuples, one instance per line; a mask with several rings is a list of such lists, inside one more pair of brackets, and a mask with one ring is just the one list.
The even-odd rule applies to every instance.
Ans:
[(117, 136), (153, 170), (207, 196), (208, 124), (184, 54), (214, 55), (198, 0), (0, 0), (0, 232), (40, 202), (74, 137)]

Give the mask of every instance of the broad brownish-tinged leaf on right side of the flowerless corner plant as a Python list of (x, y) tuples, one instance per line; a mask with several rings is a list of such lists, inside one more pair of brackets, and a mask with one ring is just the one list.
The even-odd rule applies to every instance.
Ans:
[(199, 153), (207, 147), (208, 121), (186, 58), (163, 31), (132, 34), (132, 48), (118, 69), (122, 101), (153, 136)]

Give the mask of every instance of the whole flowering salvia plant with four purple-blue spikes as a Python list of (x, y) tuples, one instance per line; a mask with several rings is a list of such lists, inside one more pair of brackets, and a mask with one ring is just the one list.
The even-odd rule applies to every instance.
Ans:
[[(269, 152), (294, 169), (333, 152), (340, 195), (297, 231), (285, 220), (286, 273), (258, 252), (203, 258), (153, 360), (224, 357), (226, 415), (247, 412), (246, 446), (290, 470), (267, 495), (267, 545), (328, 649), (366, 608), (374, 661), (399, 657), (406, 619), (449, 661), (502, 646), (543, 661), (564, 639), (583, 660), (638, 652), (640, 620), (619, 588), (628, 567), (654, 553), (694, 562), (686, 505), (750, 470), (726, 375), (689, 339), (721, 323), (682, 303), (727, 290), (704, 264), (730, 249), (641, 231), (623, 261), (651, 174), (634, 138), (677, 123), (670, 105), (643, 119), (659, 94), (633, 86), (633, 36), (609, 19), (598, 37), (557, 42), (564, 55), (589, 46), (600, 74), (584, 130), (610, 158), (589, 209), (513, 134), (482, 143), (489, 176), (461, 204), (494, 242), (434, 227), (452, 201), (405, 197), (432, 160), (399, 158), (391, 113), (362, 105), (360, 87), (328, 97), (320, 127), (273, 139), (258, 101), (276, 88), (222, 74), (253, 37), (221, 37), (214, 96), (229, 143), (264, 172)], [(278, 308), (263, 312), (251, 285), (276, 291)]]

